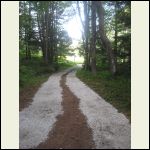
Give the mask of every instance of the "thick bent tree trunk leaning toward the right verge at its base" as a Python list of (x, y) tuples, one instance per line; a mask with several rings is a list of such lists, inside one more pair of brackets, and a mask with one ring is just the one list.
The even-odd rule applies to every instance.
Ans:
[(96, 1), (96, 6), (97, 6), (97, 10), (98, 10), (98, 15), (99, 15), (100, 38), (101, 38), (101, 41), (108, 53), (108, 58), (109, 58), (109, 63), (110, 63), (110, 71), (112, 74), (115, 74), (116, 73), (116, 64), (115, 64), (114, 52), (112, 49), (111, 42), (107, 38), (106, 33), (104, 31), (104, 9), (102, 6), (102, 1)]

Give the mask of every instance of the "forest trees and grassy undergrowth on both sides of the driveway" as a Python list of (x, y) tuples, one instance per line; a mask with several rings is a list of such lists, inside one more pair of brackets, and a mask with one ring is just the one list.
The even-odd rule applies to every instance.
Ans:
[[(82, 38), (74, 48), (63, 25), (76, 15)], [(19, 2), (20, 101), (54, 72), (75, 66), (66, 56), (76, 51), (84, 58), (76, 76), (130, 119), (131, 1)]]

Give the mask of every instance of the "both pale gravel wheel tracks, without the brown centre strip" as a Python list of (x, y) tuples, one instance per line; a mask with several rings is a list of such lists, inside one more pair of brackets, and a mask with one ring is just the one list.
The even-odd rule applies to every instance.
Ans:
[(64, 114), (62, 99), (65, 95), (60, 86), (60, 80), (66, 72), (69, 72), (66, 85), (79, 101), (79, 110), (87, 120), (87, 126), (91, 129), (91, 137), (93, 137), (96, 148), (130, 149), (129, 120), (81, 82), (75, 76), (75, 71), (70, 72), (69, 70), (50, 76), (33, 97), (31, 105), (20, 112), (20, 149), (35, 148), (46, 141), (50, 137), (49, 133), (54, 129), (54, 124), (59, 121), (58, 116)]

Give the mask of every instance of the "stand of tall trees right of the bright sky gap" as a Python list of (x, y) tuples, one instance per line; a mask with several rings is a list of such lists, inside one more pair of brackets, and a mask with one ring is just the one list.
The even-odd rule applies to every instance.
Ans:
[(131, 3), (84, 1), (82, 5), (85, 17), (82, 23), (85, 69), (92, 70), (95, 74), (96, 69), (101, 68), (98, 64), (105, 62), (109, 64), (110, 72), (115, 74), (117, 66), (122, 62), (130, 66)]

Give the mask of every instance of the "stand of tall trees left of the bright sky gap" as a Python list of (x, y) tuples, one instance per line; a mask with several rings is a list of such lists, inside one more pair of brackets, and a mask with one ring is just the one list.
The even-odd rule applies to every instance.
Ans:
[(31, 51), (41, 50), (44, 62), (51, 64), (65, 54), (71, 44), (61, 27), (67, 5), (69, 3), (59, 1), (20, 1), (20, 50), (25, 49), (27, 60), (31, 59)]

